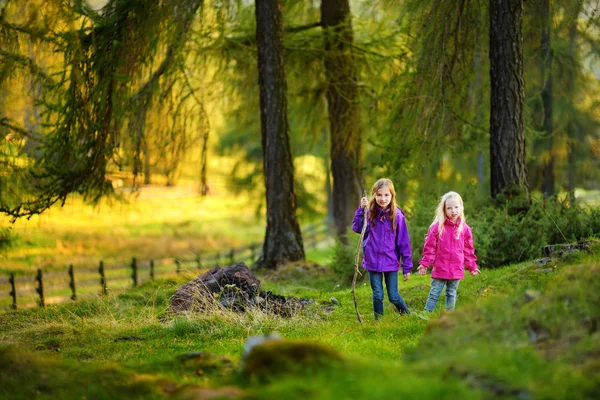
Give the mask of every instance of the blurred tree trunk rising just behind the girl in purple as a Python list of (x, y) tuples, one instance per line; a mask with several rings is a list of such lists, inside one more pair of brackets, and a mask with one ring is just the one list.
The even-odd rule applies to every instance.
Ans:
[(360, 108), (352, 58), (352, 22), (348, 0), (322, 0), (325, 35), (324, 66), (331, 132), (333, 216), (338, 237), (345, 233), (361, 197)]

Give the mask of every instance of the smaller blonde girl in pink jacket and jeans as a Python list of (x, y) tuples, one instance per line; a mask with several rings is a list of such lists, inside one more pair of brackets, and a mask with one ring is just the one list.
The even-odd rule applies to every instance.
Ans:
[(471, 227), (465, 223), (463, 201), (456, 192), (442, 196), (435, 211), (435, 219), (427, 231), (423, 258), (417, 271), (425, 275), (431, 272), (431, 290), (425, 304), (425, 311), (435, 309), (438, 298), (446, 286), (446, 310), (454, 310), (456, 290), (465, 277), (465, 267), (471, 275), (479, 275), (477, 257), (473, 248)]

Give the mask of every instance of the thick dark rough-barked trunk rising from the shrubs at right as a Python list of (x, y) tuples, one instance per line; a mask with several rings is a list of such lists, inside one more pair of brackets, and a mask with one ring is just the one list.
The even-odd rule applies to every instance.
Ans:
[(522, 0), (490, 1), (491, 192), (529, 207), (523, 131)]

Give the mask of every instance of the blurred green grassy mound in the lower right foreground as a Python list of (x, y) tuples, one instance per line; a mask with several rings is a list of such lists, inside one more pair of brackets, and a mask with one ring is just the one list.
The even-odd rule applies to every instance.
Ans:
[(431, 321), (407, 357), (417, 370), (459, 376), (498, 397), (594, 398), (600, 364), (590, 350), (598, 343), (600, 274), (598, 256), (585, 258), (554, 264), (553, 272), (533, 263), (505, 270), (511, 296), (489, 296)]

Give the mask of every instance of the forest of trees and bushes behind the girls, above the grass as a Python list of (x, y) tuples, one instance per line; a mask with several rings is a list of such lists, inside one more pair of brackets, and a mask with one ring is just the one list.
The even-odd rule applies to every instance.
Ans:
[(4, 0), (2, 243), (70, 196), (165, 185), (239, 196), (223, 215), (254, 210), (275, 267), (304, 257), (298, 221), (347, 243), (382, 176), (415, 253), (448, 190), (483, 266), (597, 235), (598, 2), (504, 6)]

